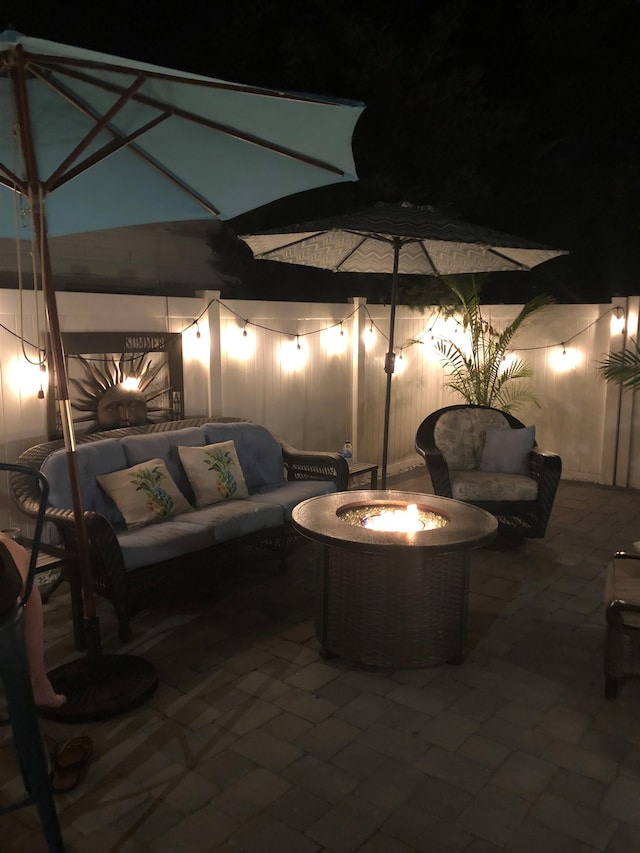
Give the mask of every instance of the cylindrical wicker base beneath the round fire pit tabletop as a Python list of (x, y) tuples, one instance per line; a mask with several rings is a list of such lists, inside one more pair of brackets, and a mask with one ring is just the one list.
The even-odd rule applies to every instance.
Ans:
[(317, 546), (321, 654), (386, 669), (462, 660), (469, 555), (401, 557)]

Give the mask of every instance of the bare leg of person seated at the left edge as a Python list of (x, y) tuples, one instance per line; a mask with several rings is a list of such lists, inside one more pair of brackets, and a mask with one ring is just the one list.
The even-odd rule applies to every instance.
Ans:
[[(29, 555), (25, 549), (13, 539), (7, 539), (0, 534), (0, 557), (5, 560), (8, 557), (15, 564), (23, 585), (26, 583), (29, 573)], [(29, 672), (31, 674), (31, 686), (33, 698), (36, 705), (49, 708), (59, 708), (65, 701), (65, 697), (56, 693), (47, 677), (44, 663), (44, 636), (42, 624), (42, 599), (40, 591), (34, 584), (25, 606), (24, 606), (24, 637), (27, 647), (27, 658), (29, 660)]]

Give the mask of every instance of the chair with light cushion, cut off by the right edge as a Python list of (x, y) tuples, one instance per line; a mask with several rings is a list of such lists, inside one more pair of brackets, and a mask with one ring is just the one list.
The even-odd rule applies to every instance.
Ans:
[(615, 699), (623, 678), (640, 675), (640, 554), (619, 551), (605, 582), (605, 696)]

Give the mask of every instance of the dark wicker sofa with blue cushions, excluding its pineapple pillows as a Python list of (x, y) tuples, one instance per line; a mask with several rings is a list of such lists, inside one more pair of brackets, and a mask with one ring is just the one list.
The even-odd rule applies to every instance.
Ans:
[[(234, 442), (247, 497), (194, 506), (180, 453), (184, 447), (227, 441)], [(87, 433), (78, 437), (76, 454), (95, 592), (112, 602), (123, 641), (130, 637), (131, 617), (142, 609), (150, 590), (179, 583), (186, 571), (210, 572), (216, 556), (241, 545), (267, 547), (284, 559), (293, 535), (293, 507), (306, 498), (344, 490), (348, 482), (348, 465), (339, 454), (297, 450), (260, 424), (232, 418), (195, 418)], [(97, 477), (158, 459), (188, 501), (188, 511), (128, 528)], [(47, 477), (46, 520), (55, 527), (62, 547), (75, 552), (77, 532), (62, 442), (36, 445), (18, 463)], [(20, 510), (35, 515), (39, 492), (34, 478), (14, 474), (11, 494)], [(82, 601), (72, 571), (70, 579), (77, 639)]]

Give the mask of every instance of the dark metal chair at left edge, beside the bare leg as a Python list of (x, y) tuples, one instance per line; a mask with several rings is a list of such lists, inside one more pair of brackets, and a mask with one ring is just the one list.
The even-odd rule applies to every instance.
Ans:
[(50, 853), (64, 853), (64, 841), (51, 787), (47, 754), (31, 689), (24, 640), (23, 606), (33, 587), (38, 548), (44, 525), (45, 507), (49, 495), (49, 484), (43, 474), (24, 465), (0, 463), (0, 470), (35, 477), (39, 481), (41, 491), (40, 509), (36, 518), (26, 588), (16, 607), (0, 615), (0, 677), (4, 682), (9, 712), (8, 719), (3, 720), (2, 723), (11, 725), (18, 764), (27, 792), (23, 799), (0, 807), (0, 815), (35, 805)]

